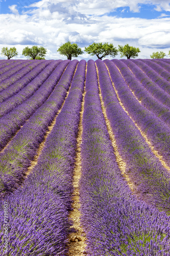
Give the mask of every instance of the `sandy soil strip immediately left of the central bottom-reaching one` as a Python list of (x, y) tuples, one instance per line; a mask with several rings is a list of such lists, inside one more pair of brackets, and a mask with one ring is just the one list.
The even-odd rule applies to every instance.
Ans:
[[(78, 64), (77, 64), (77, 66), (78, 66)], [(77, 66), (76, 66), (74, 75), (75, 75), (75, 73), (76, 73)], [(67, 67), (66, 67), (66, 68), (67, 68)], [(66, 68), (65, 68), (65, 70), (66, 70)], [(65, 70), (64, 70), (64, 72), (65, 72)], [(64, 72), (62, 73), (62, 75), (64, 74)], [(61, 77), (62, 77), (62, 75), (61, 75)], [(74, 75), (73, 75), (73, 77), (74, 77)], [(70, 87), (71, 87), (71, 83), (70, 83)], [(58, 115), (60, 114), (60, 112), (61, 112), (61, 110), (62, 110), (62, 107), (63, 107), (63, 105), (64, 105), (64, 103), (65, 103), (65, 100), (66, 100), (66, 98), (67, 98), (67, 96), (68, 96), (68, 94), (69, 94), (70, 87), (69, 87), (69, 89), (68, 89), (68, 91), (67, 91), (67, 93), (66, 93), (66, 96), (65, 96), (65, 99), (64, 99), (64, 101), (63, 101), (63, 103), (62, 103), (62, 105), (61, 105), (61, 108), (60, 108), (59, 111), (57, 112), (57, 114), (56, 114), (54, 120), (52, 121), (52, 123), (48, 126), (48, 130), (46, 131), (46, 133), (45, 133), (45, 135), (44, 135), (43, 141), (39, 144), (39, 147), (38, 147), (38, 150), (37, 150), (37, 152), (36, 152), (36, 155), (34, 156), (34, 159), (31, 161), (31, 164), (30, 164), (30, 166), (28, 167), (27, 172), (25, 173), (25, 176), (26, 176), (26, 177), (33, 171), (35, 165), (36, 165), (37, 162), (38, 162), (38, 158), (39, 158), (39, 156), (40, 156), (40, 154), (41, 154), (41, 151), (42, 151), (42, 149), (43, 149), (43, 147), (44, 147), (44, 145), (45, 145), (45, 141), (46, 141), (48, 135), (50, 135), (50, 133), (52, 132), (53, 127), (54, 127), (54, 125), (55, 125), (55, 123), (56, 123), (56, 119), (57, 119)], [(50, 97), (50, 96), (49, 96), (49, 97)], [(48, 97), (48, 98), (49, 98), (49, 97)]]

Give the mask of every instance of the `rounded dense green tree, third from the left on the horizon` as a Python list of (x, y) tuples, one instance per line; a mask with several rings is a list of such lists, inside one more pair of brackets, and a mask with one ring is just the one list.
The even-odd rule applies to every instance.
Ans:
[(70, 41), (66, 42), (57, 50), (61, 55), (67, 56), (67, 59), (71, 60), (71, 57), (78, 57), (78, 55), (83, 54), (81, 48), (77, 44), (71, 44)]

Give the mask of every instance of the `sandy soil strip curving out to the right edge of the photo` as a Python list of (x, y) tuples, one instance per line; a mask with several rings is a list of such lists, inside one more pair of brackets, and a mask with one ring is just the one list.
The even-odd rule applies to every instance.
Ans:
[[(110, 72), (108, 67), (106, 66), (109, 76), (110, 76)], [(110, 80), (111, 80), (111, 76), (110, 76)], [(112, 80), (111, 80), (112, 82)], [(115, 89), (114, 83), (112, 82), (113, 88), (115, 90), (117, 99), (119, 101), (119, 104), (122, 106), (123, 110), (127, 113), (127, 115), (132, 119), (132, 121), (134, 122), (135, 126), (137, 127), (137, 129), (139, 130), (139, 132), (141, 133), (142, 137), (145, 139), (145, 141), (147, 142), (147, 144), (149, 145), (149, 147), (151, 148), (152, 153), (159, 159), (159, 161), (161, 162), (161, 164), (163, 165), (164, 168), (166, 168), (168, 170), (168, 172), (170, 172), (170, 167), (165, 163), (165, 161), (163, 160), (163, 157), (161, 155), (159, 155), (158, 151), (154, 149), (154, 146), (151, 144), (151, 142), (149, 141), (147, 135), (145, 133), (142, 132), (142, 130), (140, 129), (140, 127), (137, 125), (137, 123), (133, 120), (133, 118), (129, 115), (128, 111), (125, 109), (122, 101), (120, 100), (117, 90)]]

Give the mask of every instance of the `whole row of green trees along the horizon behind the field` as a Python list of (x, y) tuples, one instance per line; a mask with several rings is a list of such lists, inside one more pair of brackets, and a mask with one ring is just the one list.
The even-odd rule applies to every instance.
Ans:
[[(72, 57), (78, 57), (79, 55), (83, 54), (81, 48), (77, 44), (71, 44), (70, 41), (67, 41), (65, 44), (60, 46), (57, 51), (61, 55), (65, 55), (67, 59), (70, 60)], [(105, 42), (104, 44), (102, 42), (93, 42), (93, 44), (85, 47), (84, 51), (91, 56), (96, 55), (98, 59), (102, 59), (106, 56), (111, 56), (114, 58), (118, 54), (118, 52), (120, 53), (121, 58), (136, 58), (138, 57), (138, 53), (140, 52), (138, 47), (129, 46), (129, 44), (126, 44), (125, 46), (118, 45), (117, 49), (113, 46), (113, 44), (108, 44), (108, 42)], [(32, 48), (24, 48), (22, 50), (22, 55), (28, 57), (29, 59), (45, 59), (46, 52), (47, 50), (42, 46), (33, 46)], [(12, 57), (17, 56), (18, 52), (15, 47), (11, 47), (10, 49), (8, 49), (8, 47), (3, 47), (1, 54), (7, 56), (8, 59), (11, 59)], [(166, 54), (164, 52), (153, 52), (150, 57), (160, 59), (164, 58), (165, 55)], [(170, 56), (170, 51), (168, 52), (168, 55)]]

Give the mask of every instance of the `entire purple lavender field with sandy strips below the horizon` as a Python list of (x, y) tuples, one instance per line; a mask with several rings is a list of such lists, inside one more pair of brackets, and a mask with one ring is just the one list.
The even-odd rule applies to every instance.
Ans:
[(170, 59), (0, 60), (0, 255), (170, 255)]

